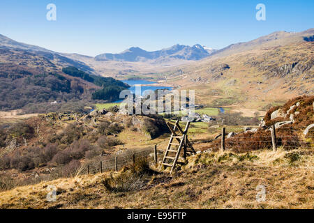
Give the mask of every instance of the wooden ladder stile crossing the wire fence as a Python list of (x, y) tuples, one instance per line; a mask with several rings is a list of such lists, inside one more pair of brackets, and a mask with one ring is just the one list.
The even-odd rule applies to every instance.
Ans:
[[(190, 144), (190, 141), (188, 141), (188, 137), (187, 137), (187, 132), (188, 132), (188, 128), (190, 126), (190, 121), (188, 121), (188, 123), (186, 123), (186, 128), (184, 129), (184, 131), (181, 129), (180, 125), (179, 125), (179, 120), (176, 121), (176, 123), (174, 123), (174, 128), (172, 128), (172, 126), (170, 125), (169, 122), (167, 122), (167, 126), (171, 131), (171, 137), (169, 139), (169, 143), (167, 145), (167, 149), (165, 151), (165, 155), (163, 157), (163, 162), (161, 163), (160, 169), (165, 166), (165, 167), (171, 167), (171, 171), (170, 174), (172, 174), (175, 165), (177, 164), (177, 161), (179, 159), (179, 155), (181, 153), (181, 149), (182, 147), (184, 148), (184, 158), (186, 158), (186, 148), (191, 148), (191, 152), (195, 154), (195, 150), (192, 146), (192, 144)], [(179, 133), (176, 133), (176, 130), (179, 130)], [(172, 141), (174, 139), (177, 139), (177, 141), (179, 142), (179, 144), (173, 143)], [(178, 146), (178, 148), (173, 149), (171, 148), (171, 146)], [(189, 151), (190, 152), (190, 151)], [(170, 153), (174, 153), (174, 154), (170, 154)], [(167, 162), (166, 162), (167, 160)], [(172, 162), (172, 163), (170, 163)]]

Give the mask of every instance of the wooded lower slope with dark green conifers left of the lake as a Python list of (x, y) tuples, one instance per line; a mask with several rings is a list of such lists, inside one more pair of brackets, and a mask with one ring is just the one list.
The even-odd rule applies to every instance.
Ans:
[[(74, 67), (62, 71), (47, 72), (43, 66), (0, 63), (0, 110), (83, 112), (94, 100), (119, 99), (119, 92), (128, 87), (111, 77), (89, 75)], [(57, 105), (52, 105), (55, 101)]]

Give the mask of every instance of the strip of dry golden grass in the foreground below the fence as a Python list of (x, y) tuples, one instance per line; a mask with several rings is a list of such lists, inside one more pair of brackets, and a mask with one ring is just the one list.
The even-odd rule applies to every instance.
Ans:
[[(294, 159), (292, 153), (298, 151), (203, 153), (179, 164), (173, 176), (130, 168), (58, 179), (2, 192), (0, 208), (314, 208), (313, 156), (299, 153)], [(133, 178), (132, 190), (104, 185), (113, 180), (111, 185), (121, 186), (125, 176), (142, 178)], [(49, 185), (57, 187), (56, 201), (46, 199)], [(257, 185), (266, 188), (260, 203)]]

